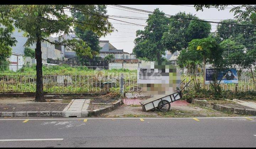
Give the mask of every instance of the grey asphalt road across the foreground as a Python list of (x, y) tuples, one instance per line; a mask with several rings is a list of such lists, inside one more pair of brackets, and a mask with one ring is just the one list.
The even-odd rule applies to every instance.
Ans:
[(0, 148), (256, 147), (256, 117), (29, 119), (0, 118)]

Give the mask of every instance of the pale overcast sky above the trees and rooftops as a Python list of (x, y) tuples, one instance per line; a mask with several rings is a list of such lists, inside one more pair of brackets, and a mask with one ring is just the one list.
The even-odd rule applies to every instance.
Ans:
[[(191, 7), (193, 5), (122, 5), (127, 7), (132, 7), (136, 9), (142, 9), (142, 10), (148, 10), (148, 11), (154, 11), (154, 9), (159, 8), (160, 11), (163, 11), (165, 14), (168, 15), (175, 15), (176, 13), (180, 11), (185, 11), (186, 13), (192, 13), (193, 15), (196, 15), (200, 19), (204, 19), (207, 21), (215, 21), (219, 22), (220, 20), (225, 19), (233, 19), (234, 13), (230, 13), (230, 9), (225, 9), (218, 11), (215, 8), (211, 9), (204, 9), (204, 11), (196, 11), (194, 7)], [(234, 5), (237, 6), (237, 5)], [(107, 15), (115, 15), (115, 16), (134, 16), (134, 17), (148, 17), (148, 14), (141, 14), (145, 12), (129, 12), (124, 10), (119, 10), (117, 7), (113, 8), (114, 6), (107, 5)], [(229, 6), (233, 7), (233, 6)], [(133, 10), (134, 11), (134, 10)], [(136, 24), (143, 24), (146, 25), (146, 20), (135, 20), (135, 19), (128, 19), (128, 18), (116, 18), (118, 20), (136, 23)], [(118, 30), (118, 32), (113, 32), (106, 37), (100, 38), (100, 40), (109, 40), (110, 43), (115, 46), (117, 49), (124, 49), (125, 52), (132, 53), (132, 49), (134, 48), (134, 39), (136, 38), (136, 30), (138, 29), (144, 29), (143, 26), (134, 26), (133, 24), (128, 24), (116, 20), (111, 20), (110, 22), (113, 24), (113, 26)], [(122, 23), (122, 24), (116, 24), (116, 23)], [(212, 24), (212, 32), (216, 30), (215, 23)]]

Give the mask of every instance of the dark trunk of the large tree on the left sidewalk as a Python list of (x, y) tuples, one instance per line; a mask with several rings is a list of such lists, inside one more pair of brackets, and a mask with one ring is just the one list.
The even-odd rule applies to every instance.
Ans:
[(42, 71), (42, 51), (41, 40), (38, 38), (36, 42), (36, 101), (46, 102), (43, 95), (43, 71)]

